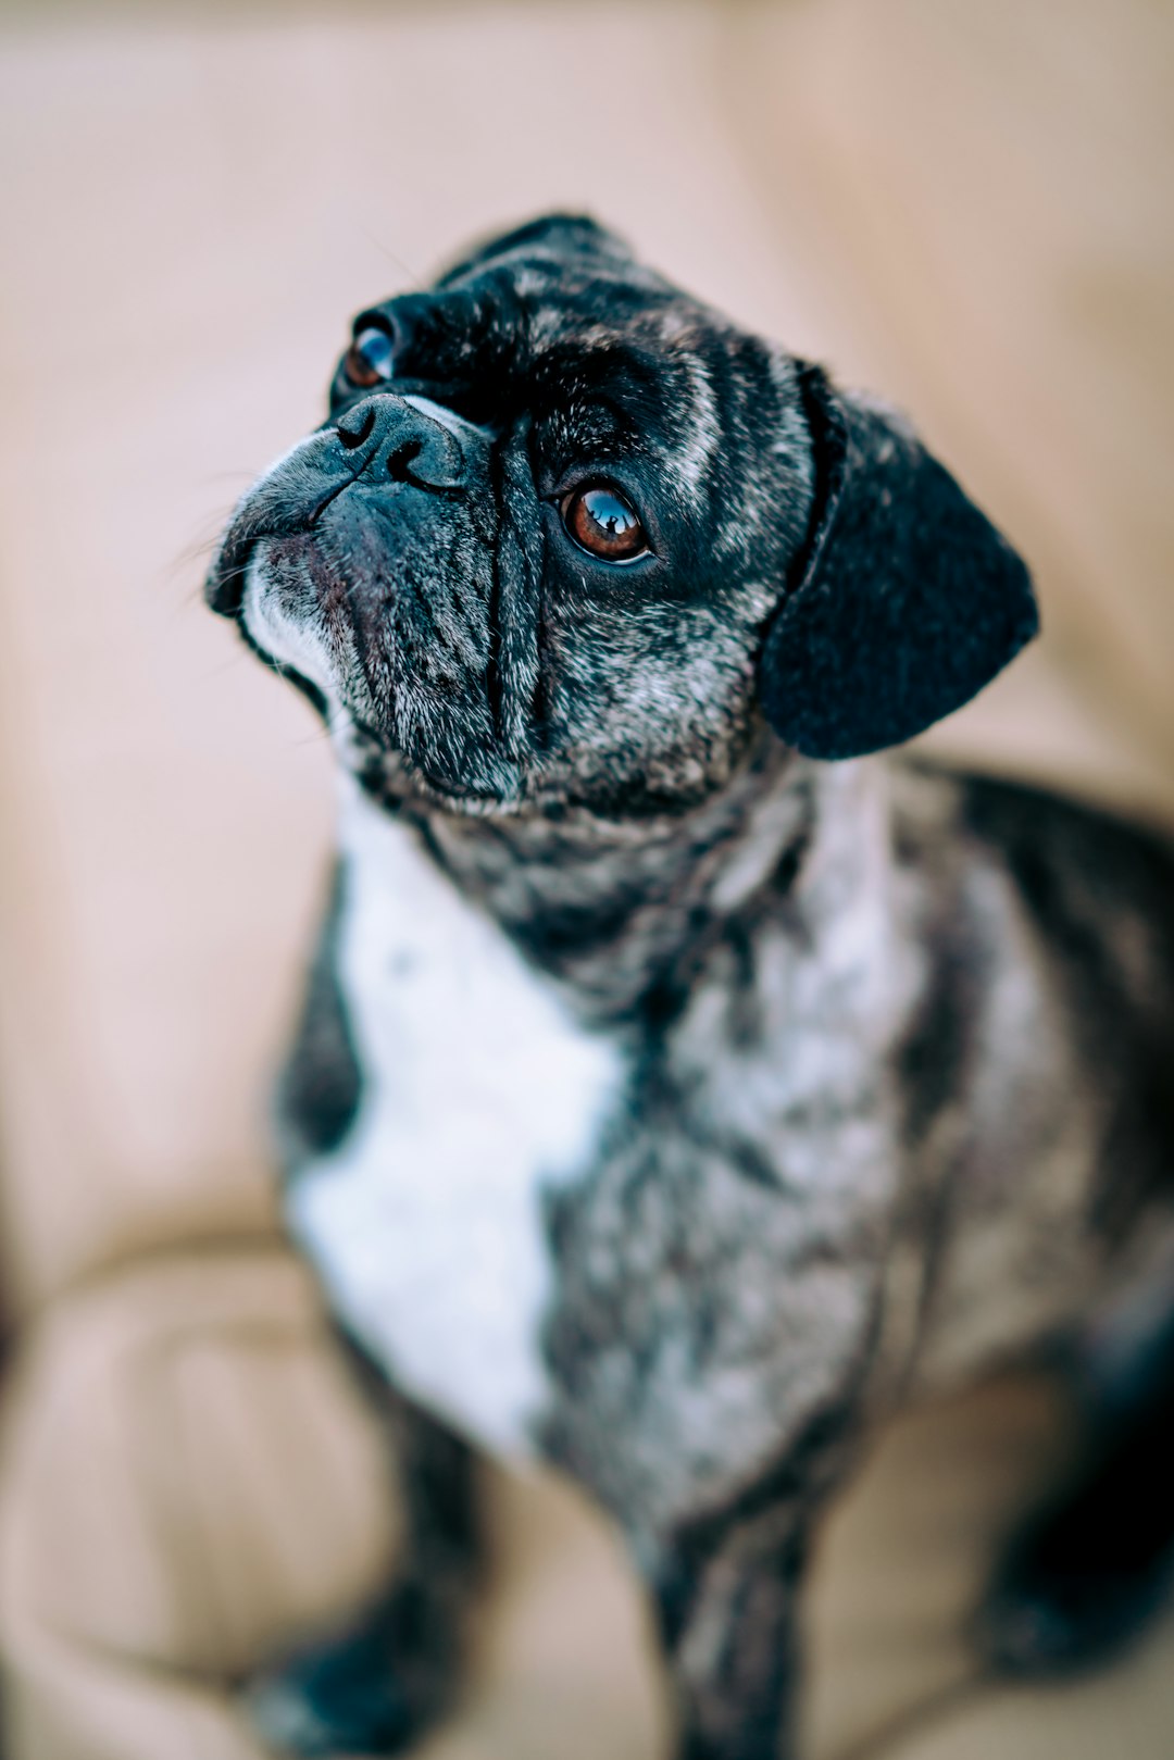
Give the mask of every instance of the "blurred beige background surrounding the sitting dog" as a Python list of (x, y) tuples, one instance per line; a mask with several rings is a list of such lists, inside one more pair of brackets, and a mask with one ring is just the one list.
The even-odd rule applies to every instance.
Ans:
[[(199, 598), (350, 313), (597, 213), (903, 403), (1031, 560), (1046, 639), (929, 743), (1169, 818), (1172, 92), (1162, 0), (0, 5), (7, 1753), (255, 1760), (232, 1683), (396, 1545), (266, 1140), (329, 755)], [(1060, 1447), (1021, 1385), (882, 1443), (820, 1558), (811, 1760), (1174, 1751), (1169, 1623), (1054, 1691), (966, 1649)], [(488, 1496), (477, 1688), (429, 1753), (651, 1760), (611, 1538)]]

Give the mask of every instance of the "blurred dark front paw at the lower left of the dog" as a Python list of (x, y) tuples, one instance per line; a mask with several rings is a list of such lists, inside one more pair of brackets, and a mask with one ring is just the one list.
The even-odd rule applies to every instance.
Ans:
[(299, 1760), (396, 1755), (417, 1734), (394, 1674), (347, 1667), (338, 1653), (259, 1676), (241, 1707), (266, 1748)]

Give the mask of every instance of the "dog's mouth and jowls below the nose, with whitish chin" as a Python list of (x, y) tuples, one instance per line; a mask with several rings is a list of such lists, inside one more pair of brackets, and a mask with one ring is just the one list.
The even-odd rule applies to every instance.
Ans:
[(461, 813), (514, 801), (521, 769), (502, 748), (491, 686), (491, 558), (482, 579), (449, 567), (465, 524), (407, 533), (370, 496), (334, 484), (306, 510), (227, 533), (211, 605), (287, 678), (375, 792), (424, 796)]

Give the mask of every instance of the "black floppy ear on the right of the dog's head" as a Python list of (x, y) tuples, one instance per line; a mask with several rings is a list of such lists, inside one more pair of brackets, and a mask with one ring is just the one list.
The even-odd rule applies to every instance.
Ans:
[(813, 759), (912, 739), (1038, 628), (1031, 577), (899, 417), (801, 384), (817, 465), (811, 533), (767, 630), (759, 695)]

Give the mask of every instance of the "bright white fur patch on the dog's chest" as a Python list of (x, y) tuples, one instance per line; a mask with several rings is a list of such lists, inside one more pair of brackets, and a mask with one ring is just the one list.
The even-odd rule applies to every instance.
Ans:
[(623, 1058), (412, 831), (345, 787), (338, 972), (363, 1100), (292, 1183), (290, 1227), (398, 1387), (525, 1456), (546, 1392), (542, 1190), (590, 1165)]

